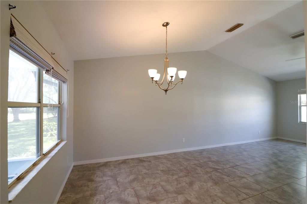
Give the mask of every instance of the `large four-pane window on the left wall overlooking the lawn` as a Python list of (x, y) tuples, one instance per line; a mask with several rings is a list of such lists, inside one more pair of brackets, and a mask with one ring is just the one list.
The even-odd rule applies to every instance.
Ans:
[(10, 50), (9, 184), (60, 141), (60, 87), (40, 66)]

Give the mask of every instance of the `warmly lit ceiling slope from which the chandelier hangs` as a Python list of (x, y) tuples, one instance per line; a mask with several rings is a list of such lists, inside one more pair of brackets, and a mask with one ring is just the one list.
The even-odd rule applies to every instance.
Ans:
[[(297, 1), (41, 1), (74, 60), (197, 51)], [(244, 25), (232, 33), (224, 31)]]

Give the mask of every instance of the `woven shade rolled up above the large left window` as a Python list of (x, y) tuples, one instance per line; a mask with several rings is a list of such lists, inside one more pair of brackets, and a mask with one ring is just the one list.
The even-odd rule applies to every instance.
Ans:
[(11, 15), (10, 46), (45, 69), (46, 74), (51, 72), (53, 78), (63, 82), (67, 81), (67, 71), (13, 15)]

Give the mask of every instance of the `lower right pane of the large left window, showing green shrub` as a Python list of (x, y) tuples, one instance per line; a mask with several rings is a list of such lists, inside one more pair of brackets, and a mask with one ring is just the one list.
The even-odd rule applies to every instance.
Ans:
[(47, 151), (59, 141), (59, 107), (44, 107), (43, 151)]

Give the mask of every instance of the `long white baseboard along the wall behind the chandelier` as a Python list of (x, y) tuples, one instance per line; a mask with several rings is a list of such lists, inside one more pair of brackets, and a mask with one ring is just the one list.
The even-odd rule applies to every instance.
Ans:
[(106, 162), (106, 161), (116, 161), (116, 160), (132, 159), (132, 158), (138, 158), (138, 157), (149, 157), (149, 156), (155, 156), (155, 155), (160, 155), (160, 154), (169, 154), (169, 153), (176, 153), (176, 152), (186, 152), (186, 151), (192, 151), (192, 150), (197, 150), (197, 149), (208, 149), (208, 148), (222, 147), (222, 146), (228, 146), (228, 145), (238, 145), (238, 144), (244, 144), (244, 143), (249, 143), (249, 142), (258, 142), (258, 141), (270, 140), (270, 139), (276, 139), (276, 138), (277, 137), (261, 138), (261, 139), (255, 139), (255, 140), (248, 140), (248, 141), (241, 141), (241, 142), (231, 142), (231, 143), (218, 144), (218, 145), (191, 147), (191, 148), (185, 148), (185, 149), (174, 149), (174, 150), (168, 150), (168, 151), (162, 151), (162, 152), (153, 152), (153, 153), (145, 153), (145, 154), (134, 154), (134, 155), (122, 156), (122, 157), (111, 157), (111, 158), (105, 158), (105, 159), (75, 161), (74, 165), (100, 163), (100, 162)]

